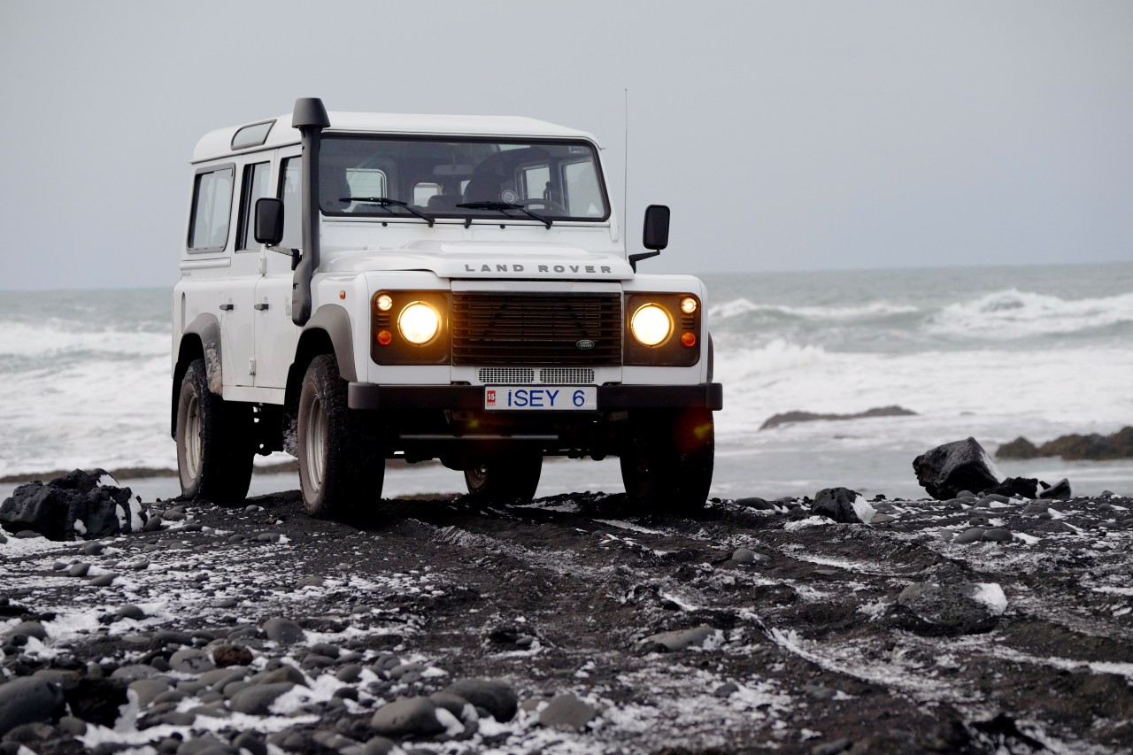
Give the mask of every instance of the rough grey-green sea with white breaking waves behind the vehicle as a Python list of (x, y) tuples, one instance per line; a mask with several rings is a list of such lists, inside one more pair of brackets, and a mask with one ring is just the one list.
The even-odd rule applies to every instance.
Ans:
[[(912, 460), (974, 436), (1108, 434), (1133, 424), (1133, 263), (705, 274), (724, 410), (713, 494), (921, 497)], [(0, 477), (176, 469), (170, 289), (0, 292)], [(792, 410), (914, 415), (760, 430)], [(258, 459), (266, 465), (290, 457)], [(1033, 459), (1004, 474), (1133, 494), (1133, 461)], [(172, 474), (172, 473), (171, 473)], [(144, 483), (174, 495), (176, 481)], [(459, 491), (459, 473), (391, 470), (386, 495)], [(253, 492), (296, 487), (257, 475)], [(0, 497), (11, 485), (0, 485)], [(616, 460), (555, 461), (540, 495), (621, 489)], [(136, 490), (137, 492), (137, 490)]]

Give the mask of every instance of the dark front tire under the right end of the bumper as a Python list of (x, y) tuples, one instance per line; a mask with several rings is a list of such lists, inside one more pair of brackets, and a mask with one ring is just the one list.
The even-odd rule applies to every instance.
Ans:
[(620, 461), (625, 494), (645, 511), (695, 515), (712, 486), (716, 433), (708, 409), (630, 415)]

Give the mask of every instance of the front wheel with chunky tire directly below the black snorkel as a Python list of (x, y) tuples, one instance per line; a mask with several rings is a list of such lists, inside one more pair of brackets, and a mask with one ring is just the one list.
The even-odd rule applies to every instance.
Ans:
[(356, 520), (382, 498), (385, 459), (367, 415), (347, 406), (347, 381), (333, 355), (316, 356), (299, 393), (299, 486), (307, 514)]

